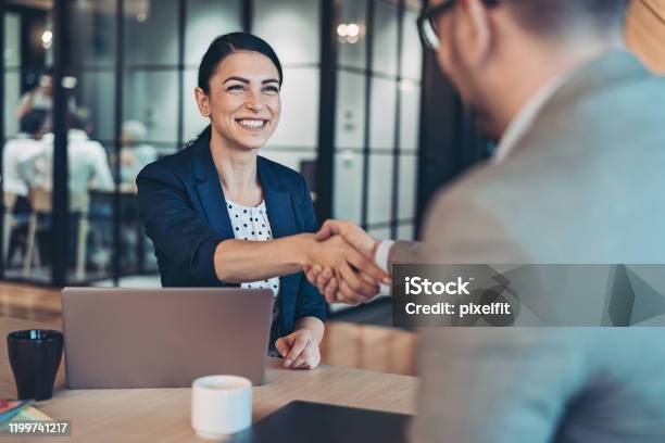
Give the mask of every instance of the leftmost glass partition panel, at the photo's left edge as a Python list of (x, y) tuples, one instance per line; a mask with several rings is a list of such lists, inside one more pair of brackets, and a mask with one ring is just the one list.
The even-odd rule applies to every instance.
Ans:
[(0, 86), (3, 102), (1, 271), (8, 279), (50, 282), (52, 243), (48, 239), (45, 242), (45, 235), (52, 226), (52, 217), (47, 214), (52, 207), (51, 192), (32, 188), (36, 188), (37, 176), (41, 178), (48, 173), (39, 139), (48, 135), (52, 145), (53, 138), (49, 112), (53, 85), (47, 71), (53, 64), (52, 4), (5, 1), (0, 8), (3, 48), (0, 62), (3, 74)]

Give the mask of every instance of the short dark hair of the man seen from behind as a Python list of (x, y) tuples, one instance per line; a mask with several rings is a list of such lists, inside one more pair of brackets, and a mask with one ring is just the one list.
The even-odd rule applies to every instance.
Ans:
[(563, 35), (573, 24), (588, 22), (599, 30), (622, 26), (628, 0), (505, 0), (506, 7), (528, 30)]

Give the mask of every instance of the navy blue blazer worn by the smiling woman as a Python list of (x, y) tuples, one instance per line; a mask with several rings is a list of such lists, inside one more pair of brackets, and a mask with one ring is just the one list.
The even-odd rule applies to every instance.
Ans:
[[(318, 228), (304, 177), (258, 157), (274, 238)], [(136, 179), (139, 214), (154, 243), (163, 287), (233, 287), (215, 275), (217, 244), (234, 238), (224, 193), (210, 152), (210, 137), (146, 166)], [(303, 273), (280, 278), (281, 332), (306, 316), (325, 318), (326, 303)]]

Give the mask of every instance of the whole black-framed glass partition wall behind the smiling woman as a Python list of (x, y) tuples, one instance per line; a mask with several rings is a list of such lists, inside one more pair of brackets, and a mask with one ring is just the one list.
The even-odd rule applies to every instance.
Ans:
[(319, 216), (352, 219), (377, 237), (413, 236), (418, 2), (8, 0), (1, 8), (4, 279), (159, 286), (135, 178), (203, 129), (198, 64), (214, 37), (234, 30), (265, 38), (284, 65), (281, 122), (261, 154), (305, 175)]

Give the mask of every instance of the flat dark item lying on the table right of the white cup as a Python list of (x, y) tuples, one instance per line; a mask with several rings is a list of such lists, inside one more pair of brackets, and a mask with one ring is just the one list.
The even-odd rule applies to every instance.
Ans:
[(234, 435), (233, 443), (403, 443), (411, 416), (296, 401)]

